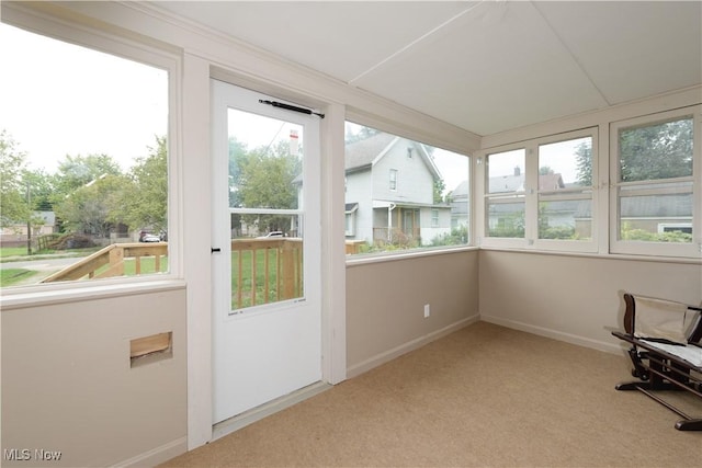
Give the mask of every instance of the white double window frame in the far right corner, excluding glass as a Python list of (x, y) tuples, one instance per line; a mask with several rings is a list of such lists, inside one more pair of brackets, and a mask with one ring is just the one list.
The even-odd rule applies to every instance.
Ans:
[[(575, 140), (590, 137), (592, 139), (592, 186), (591, 193), (591, 236), (589, 240), (570, 240), (570, 239), (539, 239), (539, 148), (542, 145)], [(478, 213), (477, 218), (480, 224), (476, 226), (479, 235), (480, 247), (488, 248), (507, 248), (507, 249), (526, 249), (539, 251), (556, 251), (556, 252), (578, 252), (595, 253), (598, 250), (598, 145), (599, 145), (599, 127), (590, 126), (573, 132), (565, 132), (544, 137), (528, 139), (520, 142), (501, 145), (492, 148), (480, 150), (477, 156), (477, 167), (479, 173), (477, 180), (480, 186), (476, 186), (476, 199), (482, 203), (476, 204), (475, 209)], [(499, 195), (489, 193), (489, 171), (488, 158), (491, 155), (524, 149), (524, 191), (516, 192), (511, 195), (524, 197), (524, 237), (523, 238), (499, 238), (490, 237), (488, 226), (487, 204), (491, 198), (499, 198)], [(563, 194), (563, 198), (574, 191)]]

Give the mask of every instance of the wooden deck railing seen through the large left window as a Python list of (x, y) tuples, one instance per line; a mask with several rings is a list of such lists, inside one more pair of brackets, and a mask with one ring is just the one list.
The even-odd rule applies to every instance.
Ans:
[(154, 267), (149, 266), (148, 272), (144, 273), (160, 272), (161, 260), (167, 255), (167, 242), (113, 243), (45, 277), (42, 283), (122, 276), (125, 273), (126, 259), (134, 259), (135, 275), (143, 273), (143, 260), (145, 259), (154, 259)]

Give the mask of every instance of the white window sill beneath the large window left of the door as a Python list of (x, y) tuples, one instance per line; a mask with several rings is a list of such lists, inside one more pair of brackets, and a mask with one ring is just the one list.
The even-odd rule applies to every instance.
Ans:
[(32, 290), (23, 289), (16, 294), (3, 292), (0, 297), (0, 309), (3, 312), (26, 307), (45, 306), (49, 304), (79, 303), (83, 300), (104, 299), (110, 297), (128, 296), (152, 292), (176, 290), (185, 288), (183, 279), (157, 279), (144, 282), (129, 282), (122, 284), (91, 284), (60, 289)]

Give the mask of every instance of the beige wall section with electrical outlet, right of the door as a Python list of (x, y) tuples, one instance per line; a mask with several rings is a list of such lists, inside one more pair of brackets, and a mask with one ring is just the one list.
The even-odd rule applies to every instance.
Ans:
[(477, 250), (352, 261), (347, 267), (349, 376), (477, 319)]

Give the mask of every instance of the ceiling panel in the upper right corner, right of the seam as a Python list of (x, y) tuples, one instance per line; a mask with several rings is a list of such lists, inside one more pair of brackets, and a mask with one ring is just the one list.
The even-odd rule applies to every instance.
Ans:
[(610, 104), (702, 82), (702, 2), (539, 2)]

